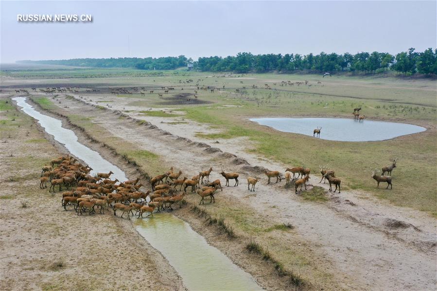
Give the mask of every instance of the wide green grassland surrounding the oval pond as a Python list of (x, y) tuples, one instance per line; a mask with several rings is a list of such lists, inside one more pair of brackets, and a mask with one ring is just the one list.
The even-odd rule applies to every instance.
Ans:
[[(74, 71), (74, 74), (72, 73)], [(19, 78), (52, 78), (50, 82), (82, 83), (90, 75), (89, 86), (175, 86), (177, 93), (194, 93), (194, 84), (224, 88), (222, 92), (200, 90), (199, 100), (210, 104), (167, 104), (185, 113), (184, 118), (207, 124), (214, 133), (199, 133), (206, 140), (246, 137), (250, 143), (245, 151), (286, 165), (304, 164), (313, 170), (330, 164), (342, 179), (345, 189), (364, 190), (375, 197), (387, 199), (395, 205), (427, 211), (437, 217), (436, 185), (436, 85), (434, 80), (389, 76), (301, 74), (244, 74), (198, 73), (184, 71), (138, 71), (133, 69), (74, 69), (4, 72)], [(79, 74), (79, 75), (77, 75)], [(106, 75), (107, 74), (107, 75)], [(116, 76), (117, 78), (112, 78)], [(185, 80), (194, 82), (184, 84)], [(309, 81), (312, 86), (280, 86), (281, 81)], [(317, 84), (322, 82), (322, 84)], [(272, 87), (264, 89), (264, 84)], [(275, 85), (276, 84), (276, 85)], [(252, 85), (257, 88), (252, 88)], [(244, 89), (243, 86), (246, 88)], [(182, 91), (181, 88), (184, 88)], [(236, 93), (239, 89), (240, 93)], [(135, 94), (134, 94), (135, 95)], [(170, 95), (170, 94), (169, 94)], [(129, 106), (161, 108), (157, 94), (147, 94), (132, 101), (133, 96), (119, 95), (120, 102)], [(165, 98), (166, 96), (164, 96)], [(104, 100), (108, 100), (105, 98)], [(44, 104), (42, 104), (45, 106)], [(112, 105), (115, 105), (113, 102)], [(361, 106), (369, 120), (390, 120), (418, 124), (426, 132), (377, 142), (338, 142), (282, 133), (248, 121), (255, 117), (325, 116), (351, 117), (353, 108)], [(172, 117), (172, 114), (152, 111), (144, 114), (154, 117)], [(156, 113), (157, 112), (157, 113)], [(172, 121), (172, 120), (169, 120)], [(173, 120), (178, 122), (179, 120)], [(85, 124), (86, 125), (86, 124)], [(218, 130), (218, 132), (217, 132)], [(399, 157), (393, 171), (393, 190), (376, 189), (371, 169), (388, 165)], [(414, 179), (413, 179), (414, 177)]]

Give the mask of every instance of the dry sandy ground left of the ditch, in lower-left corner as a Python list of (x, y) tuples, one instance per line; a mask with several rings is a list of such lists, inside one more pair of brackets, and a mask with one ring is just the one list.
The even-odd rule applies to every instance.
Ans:
[[(64, 211), (59, 192), (39, 189), (43, 165), (22, 168), (20, 161), (65, 154), (59, 145), (26, 142), (50, 138), (40, 130), (34, 123), (1, 139), (0, 289), (184, 290), (173, 267), (130, 221), (111, 211), (77, 216)], [(59, 259), (63, 267), (55, 266)]]

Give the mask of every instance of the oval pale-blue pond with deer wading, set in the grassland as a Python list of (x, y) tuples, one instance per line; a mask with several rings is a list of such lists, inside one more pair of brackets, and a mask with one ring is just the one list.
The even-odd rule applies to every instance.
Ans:
[(426, 128), (413, 124), (343, 118), (252, 118), (251, 121), (283, 132), (313, 136), (322, 127), (320, 138), (339, 141), (376, 141), (410, 135)]

